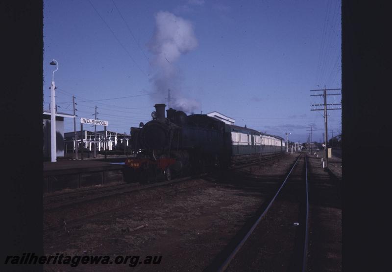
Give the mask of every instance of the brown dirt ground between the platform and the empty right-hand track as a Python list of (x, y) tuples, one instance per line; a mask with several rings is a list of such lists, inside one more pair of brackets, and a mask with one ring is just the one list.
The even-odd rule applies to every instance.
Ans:
[[(46, 265), (45, 271), (203, 271), (264, 202), (297, 155), (238, 169), (219, 180), (206, 177), (46, 211), (44, 225), (59, 226), (45, 233), (47, 255), (109, 255), (111, 260), (119, 255), (140, 255), (140, 260), (157, 255), (162, 259), (160, 264), (136, 267), (129, 262), (75, 268)], [(293, 205), (282, 202), (276, 209), (290, 211)], [(64, 221), (73, 224), (64, 226)], [(293, 229), (283, 221), (280, 225)], [(264, 235), (273, 242), (277, 228), (267, 226), (270, 233)], [(287, 239), (292, 235), (288, 231)], [(262, 249), (264, 256), (279, 253), (268, 245)]]

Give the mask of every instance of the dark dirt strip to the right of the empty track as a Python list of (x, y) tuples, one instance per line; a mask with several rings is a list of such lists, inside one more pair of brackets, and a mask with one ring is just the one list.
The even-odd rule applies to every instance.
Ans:
[(310, 158), (309, 164), (311, 171), (309, 177), (310, 232), (307, 271), (342, 271), (340, 188), (343, 181), (329, 179), (328, 173), (323, 171), (318, 158)]

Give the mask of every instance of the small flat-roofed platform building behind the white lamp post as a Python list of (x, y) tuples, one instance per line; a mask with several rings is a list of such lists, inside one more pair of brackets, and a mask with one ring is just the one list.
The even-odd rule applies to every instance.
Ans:
[[(64, 117), (73, 118), (74, 115), (56, 113), (56, 157), (64, 157)], [(50, 158), (50, 112), (43, 113), (44, 129), (44, 159)]]

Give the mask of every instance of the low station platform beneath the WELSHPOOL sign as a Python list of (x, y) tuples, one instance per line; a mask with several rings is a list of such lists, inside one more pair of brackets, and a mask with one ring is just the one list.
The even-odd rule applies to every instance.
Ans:
[(44, 193), (123, 181), (125, 158), (44, 162)]

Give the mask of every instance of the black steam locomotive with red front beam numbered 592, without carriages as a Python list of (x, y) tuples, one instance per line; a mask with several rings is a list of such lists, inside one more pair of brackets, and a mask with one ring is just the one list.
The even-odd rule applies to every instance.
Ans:
[[(156, 104), (152, 120), (131, 128), (133, 158), (125, 161), (124, 176), (170, 180), (195, 169), (220, 166), (225, 161), (224, 123), (205, 114), (187, 115)], [(226, 143), (228, 144), (228, 143)]]

